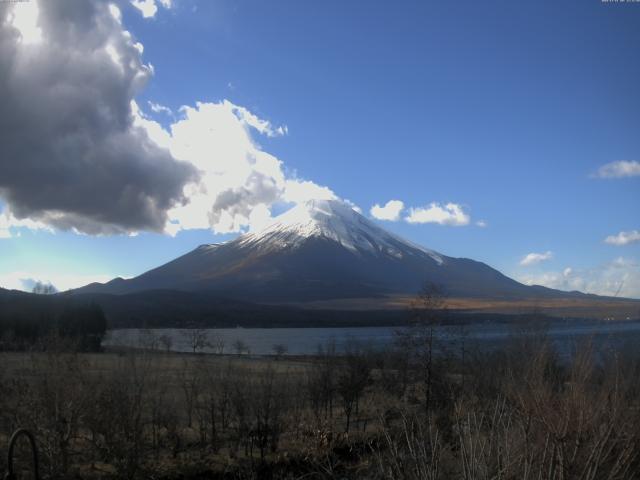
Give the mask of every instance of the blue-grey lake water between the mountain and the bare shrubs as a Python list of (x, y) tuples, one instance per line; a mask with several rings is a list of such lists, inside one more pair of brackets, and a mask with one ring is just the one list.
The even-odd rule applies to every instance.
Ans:
[[(506, 323), (481, 323), (460, 326), (444, 326), (438, 335), (444, 343), (459, 341), (461, 333), (465, 344), (471, 347), (496, 349), (506, 345), (514, 334), (531, 334), (531, 331)], [(374, 348), (385, 347), (395, 340), (397, 327), (352, 328), (216, 328), (204, 330), (209, 346), (200, 351), (236, 353), (234, 344), (241, 341), (247, 351), (255, 355), (273, 354), (274, 345), (284, 345), (290, 355), (310, 355), (319, 345), (334, 343), (338, 351), (344, 351), (350, 343)], [(165, 348), (159, 339), (171, 339), (171, 350), (191, 352), (192, 332), (188, 329), (118, 329), (110, 330), (104, 346), (133, 348)], [(527, 333), (528, 332), (528, 333)], [(561, 353), (567, 353), (583, 340), (592, 339), (596, 347), (631, 348), (640, 350), (640, 321), (555, 321), (548, 324), (550, 338)]]

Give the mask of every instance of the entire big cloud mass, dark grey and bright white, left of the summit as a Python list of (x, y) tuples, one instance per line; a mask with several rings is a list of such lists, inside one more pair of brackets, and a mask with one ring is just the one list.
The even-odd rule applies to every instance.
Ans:
[[(0, 236), (255, 229), (275, 203), (335, 198), (287, 177), (257, 136), (286, 135), (245, 107), (174, 115), (135, 98), (153, 75), (119, 9), (98, 0), (0, 3)], [(171, 113), (164, 129), (150, 115)]]

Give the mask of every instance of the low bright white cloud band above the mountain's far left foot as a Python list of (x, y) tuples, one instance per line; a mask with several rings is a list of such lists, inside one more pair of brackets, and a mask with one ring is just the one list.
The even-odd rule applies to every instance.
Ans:
[(0, 273), (0, 287), (9, 290), (31, 291), (36, 282), (51, 284), (59, 291), (82, 287), (93, 282), (108, 282), (112, 275), (103, 274), (61, 274), (58, 272), (16, 271)]

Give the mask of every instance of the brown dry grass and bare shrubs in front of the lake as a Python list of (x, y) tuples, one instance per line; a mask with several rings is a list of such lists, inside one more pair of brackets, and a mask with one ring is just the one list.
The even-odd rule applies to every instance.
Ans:
[(52, 335), (0, 354), (0, 432), (33, 431), (48, 478), (638, 478), (633, 354), (560, 359), (540, 329), (442, 351), (424, 325), (388, 351), (297, 359), (80, 353)]

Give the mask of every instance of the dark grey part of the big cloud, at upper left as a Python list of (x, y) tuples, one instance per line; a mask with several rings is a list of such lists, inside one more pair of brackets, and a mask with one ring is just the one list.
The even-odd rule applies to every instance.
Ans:
[(0, 4), (0, 198), (61, 229), (162, 230), (196, 171), (133, 125), (152, 74), (141, 46), (87, 0), (40, 2), (29, 43), (12, 20), (23, 5)]

